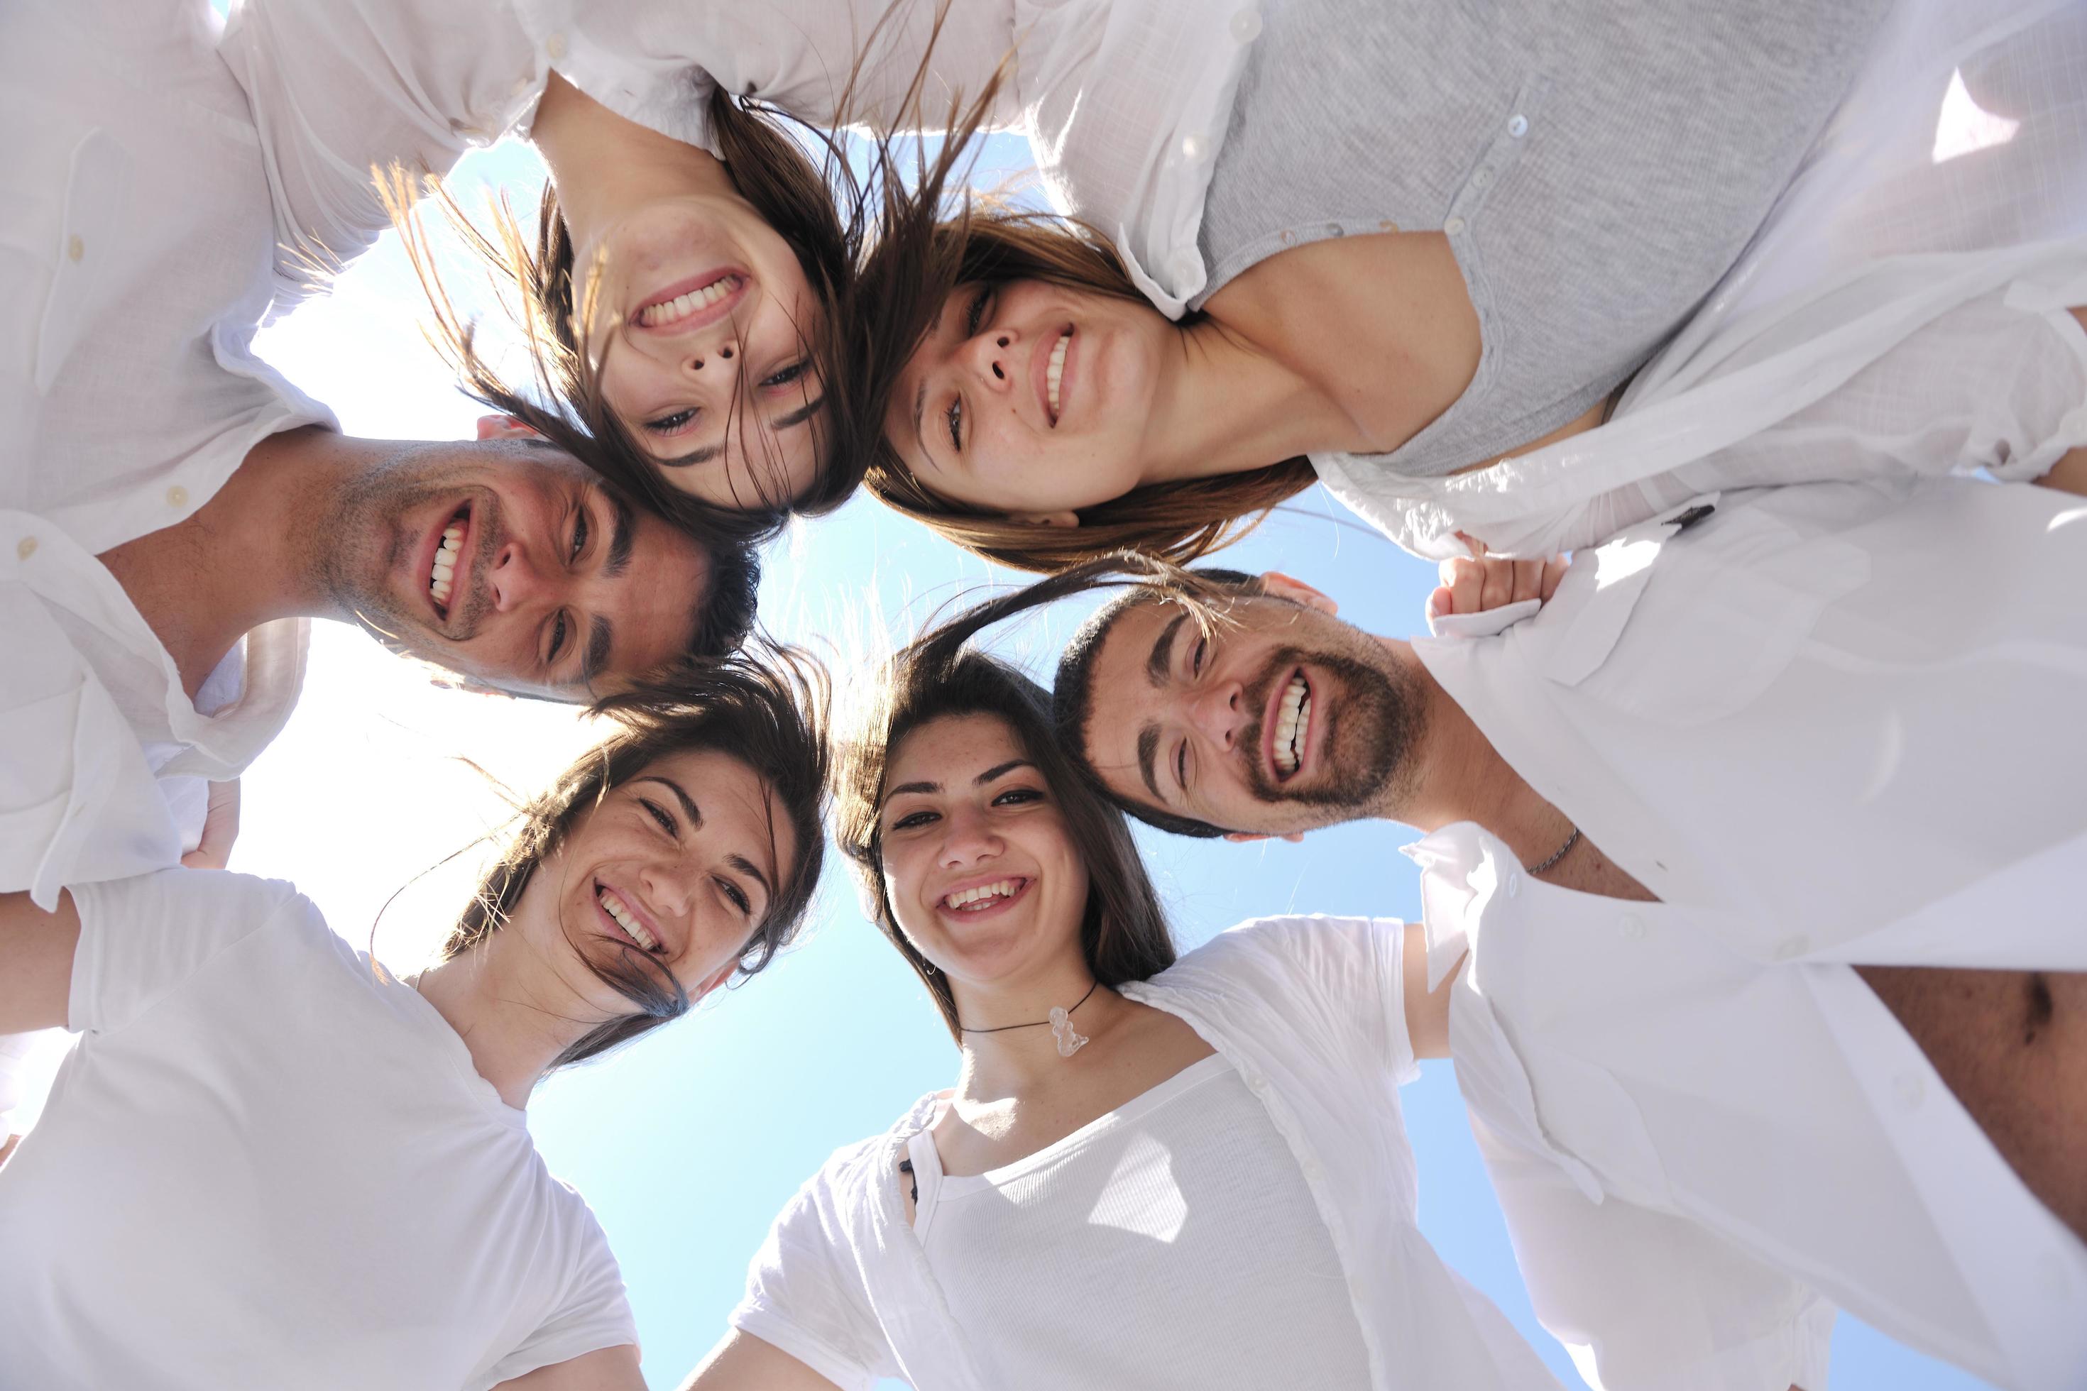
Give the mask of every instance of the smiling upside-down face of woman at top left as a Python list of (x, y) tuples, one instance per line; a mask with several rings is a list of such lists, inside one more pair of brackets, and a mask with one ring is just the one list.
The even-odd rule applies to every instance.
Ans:
[[(674, 488), (728, 509), (818, 475), (822, 307), (789, 242), (737, 194), (662, 198), (574, 248), (601, 394)], [(586, 307), (582, 288), (576, 304)]]

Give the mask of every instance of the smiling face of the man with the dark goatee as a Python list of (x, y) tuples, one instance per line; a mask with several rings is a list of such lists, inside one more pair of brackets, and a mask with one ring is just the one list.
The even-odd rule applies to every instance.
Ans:
[(1087, 755), (1125, 799), (1223, 830), (1290, 834), (1384, 815), (1423, 726), (1415, 678), (1375, 638), (1273, 596), (1204, 636), (1137, 603), (1094, 655)]

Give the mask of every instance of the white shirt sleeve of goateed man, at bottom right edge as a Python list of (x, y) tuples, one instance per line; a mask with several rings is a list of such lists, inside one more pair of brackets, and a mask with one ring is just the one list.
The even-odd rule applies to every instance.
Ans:
[(1607, 1391), (1826, 1389), (1834, 1308), (1678, 1216), (1590, 1201), (1471, 1116), (1536, 1318)]

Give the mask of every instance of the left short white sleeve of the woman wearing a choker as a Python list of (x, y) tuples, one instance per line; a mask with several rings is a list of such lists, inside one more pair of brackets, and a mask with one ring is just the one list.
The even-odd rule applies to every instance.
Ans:
[(837, 1387), (868, 1391), (899, 1368), (847, 1255), (831, 1172), (806, 1180), (768, 1228), (730, 1324)]

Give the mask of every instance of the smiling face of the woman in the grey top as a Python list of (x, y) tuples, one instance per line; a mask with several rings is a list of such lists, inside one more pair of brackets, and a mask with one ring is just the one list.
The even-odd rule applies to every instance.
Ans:
[(1140, 484), (1167, 348), (1146, 302), (1018, 279), (958, 286), (899, 373), (885, 440), (920, 486), (1016, 519)]

